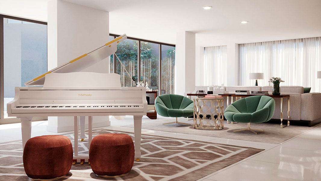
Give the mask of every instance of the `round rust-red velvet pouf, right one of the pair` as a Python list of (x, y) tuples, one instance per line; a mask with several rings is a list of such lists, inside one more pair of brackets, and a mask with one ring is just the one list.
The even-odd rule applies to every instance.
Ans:
[(102, 177), (125, 176), (134, 164), (133, 139), (127, 134), (101, 134), (90, 144), (89, 159), (92, 171)]

